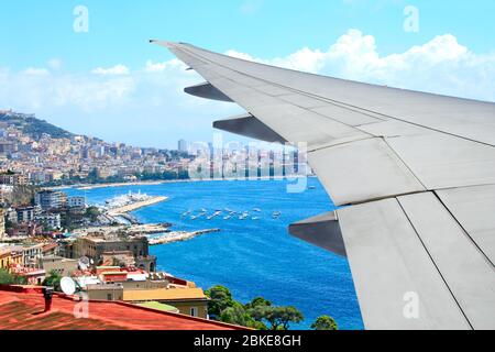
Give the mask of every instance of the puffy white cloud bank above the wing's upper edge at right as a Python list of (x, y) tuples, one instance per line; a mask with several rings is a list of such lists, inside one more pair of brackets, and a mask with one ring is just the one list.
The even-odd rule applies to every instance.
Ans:
[(349, 30), (326, 51), (304, 47), (271, 59), (235, 51), (227, 54), (344, 79), (495, 100), (495, 54), (475, 54), (452, 34), (438, 35), (404, 53), (384, 56), (377, 51), (375, 37), (358, 30)]

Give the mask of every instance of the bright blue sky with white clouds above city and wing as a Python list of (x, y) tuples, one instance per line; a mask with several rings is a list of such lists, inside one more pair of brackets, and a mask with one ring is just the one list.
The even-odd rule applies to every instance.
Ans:
[[(76, 6), (88, 9), (87, 33), (73, 30)], [(407, 6), (419, 11), (418, 32), (404, 30)], [(180, 85), (200, 78), (151, 37), (418, 90), (483, 100), (495, 91), (492, 0), (2, 0), (0, 13), (0, 109), (108, 141), (209, 141), (212, 120), (239, 112), (183, 97)]]

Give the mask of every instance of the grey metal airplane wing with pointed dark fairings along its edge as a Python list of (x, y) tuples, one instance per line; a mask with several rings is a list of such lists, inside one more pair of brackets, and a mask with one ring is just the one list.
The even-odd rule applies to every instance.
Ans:
[[(153, 41), (155, 42), (155, 41)], [(290, 226), (349, 258), (366, 329), (495, 329), (495, 105), (156, 42), (245, 116), (217, 128), (308, 144), (336, 205)]]

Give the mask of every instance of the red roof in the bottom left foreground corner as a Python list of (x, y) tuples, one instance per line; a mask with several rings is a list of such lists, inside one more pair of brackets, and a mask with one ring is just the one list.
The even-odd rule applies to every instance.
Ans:
[[(74, 315), (80, 301), (55, 294), (44, 310), (38, 286), (0, 286), (0, 330), (240, 330), (242, 327), (124, 302), (89, 301), (88, 318)], [(76, 308), (77, 310), (77, 308)]]

